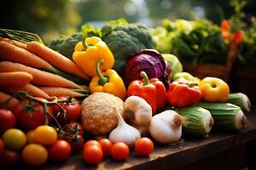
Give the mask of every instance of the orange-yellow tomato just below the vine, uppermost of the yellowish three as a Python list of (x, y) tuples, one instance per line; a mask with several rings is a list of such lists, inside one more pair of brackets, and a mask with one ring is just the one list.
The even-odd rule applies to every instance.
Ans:
[(38, 144), (54, 144), (58, 138), (58, 134), (54, 127), (48, 125), (41, 125), (35, 129), (34, 140)]

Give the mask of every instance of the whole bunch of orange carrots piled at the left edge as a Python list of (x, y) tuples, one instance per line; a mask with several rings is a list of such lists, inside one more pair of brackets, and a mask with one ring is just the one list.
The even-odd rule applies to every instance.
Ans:
[[(77, 84), (73, 81), (75, 77), (85, 83)], [(44, 99), (82, 97), (83, 92), (87, 92), (86, 81), (89, 78), (78, 65), (43, 44), (0, 37), (0, 99), (20, 90)]]

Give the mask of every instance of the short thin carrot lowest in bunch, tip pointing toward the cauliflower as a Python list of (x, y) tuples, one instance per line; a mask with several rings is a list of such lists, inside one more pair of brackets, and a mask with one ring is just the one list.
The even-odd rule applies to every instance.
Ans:
[(44, 93), (49, 96), (71, 96), (71, 97), (83, 97), (85, 94), (80, 94), (73, 91), (70, 88), (56, 88), (56, 87), (39, 87)]

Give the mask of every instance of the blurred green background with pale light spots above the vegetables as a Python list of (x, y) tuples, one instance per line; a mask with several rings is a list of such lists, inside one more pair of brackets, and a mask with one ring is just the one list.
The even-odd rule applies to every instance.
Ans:
[[(256, 1), (245, 12), (255, 15)], [(0, 27), (38, 33), (44, 42), (60, 34), (70, 35), (91, 23), (120, 17), (146, 26), (158, 26), (164, 18), (193, 20), (207, 18), (219, 24), (233, 13), (228, 0), (9, 0), (0, 5)]]

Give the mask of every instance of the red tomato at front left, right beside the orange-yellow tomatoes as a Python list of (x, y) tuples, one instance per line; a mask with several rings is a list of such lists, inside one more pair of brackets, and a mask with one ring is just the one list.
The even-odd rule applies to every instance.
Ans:
[(59, 139), (48, 148), (51, 161), (66, 161), (71, 154), (71, 146), (66, 140)]

